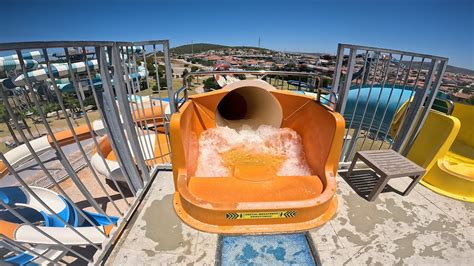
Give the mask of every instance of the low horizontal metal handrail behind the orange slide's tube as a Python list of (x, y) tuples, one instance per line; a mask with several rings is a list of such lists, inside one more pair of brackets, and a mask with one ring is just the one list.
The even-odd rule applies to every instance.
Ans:
[[(240, 75), (240, 74), (248, 74), (248, 75), (262, 75), (260, 79), (268, 76), (268, 75), (275, 75), (275, 76), (297, 76), (297, 77), (312, 77), (312, 78), (318, 78), (319, 73), (314, 73), (314, 72), (296, 72), (296, 71), (272, 71), (272, 70), (239, 70), (239, 71), (196, 71), (196, 72), (189, 72), (183, 77), (183, 86), (179, 88), (175, 93), (174, 93), (174, 100), (175, 100), (175, 106), (176, 110), (179, 110), (179, 108), (188, 100), (188, 79), (193, 76), (209, 76), (209, 75), (215, 75), (215, 74), (222, 74), (222, 75)], [(179, 95), (184, 92), (184, 97), (179, 98)], [(324, 89), (324, 88), (316, 88), (316, 93), (317, 93), (317, 100), (319, 101), (321, 99), (321, 93), (326, 93), (326, 94), (331, 94), (332, 92), (330, 90)], [(183, 100), (184, 99), (184, 100)], [(335, 104), (331, 102), (330, 99), (327, 99), (329, 103)]]

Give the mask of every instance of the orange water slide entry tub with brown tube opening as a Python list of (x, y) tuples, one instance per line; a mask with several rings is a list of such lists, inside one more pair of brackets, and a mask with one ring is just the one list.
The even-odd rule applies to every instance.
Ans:
[[(294, 130), (301, 137), (311, 175), (279, 176), (264, 163), (236, 166), (226, 176), (197, 176), (201, 134), (217, 126), (243, 124)], [(171, 119), (176, 213), (198, 230), (224, 234), (320, 226), (337, 209), (336, 172), (343, 134), (340, 114), (261, 80), (238, 81), (190, 96)]]

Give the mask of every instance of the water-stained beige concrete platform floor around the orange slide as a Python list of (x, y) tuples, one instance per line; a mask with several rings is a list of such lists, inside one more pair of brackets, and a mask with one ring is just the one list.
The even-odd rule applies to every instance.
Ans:
[[(310, 231), (323, 265), (472, 265), (474, 204), (422, 185), (407, 197), (383, 193), (371, 203), (338, 178), (337, 215)], [(394, 181), (402, 189), (409, 179)], [(214, 264), (217, 235), (182, 223), (173, 191), (171, 172), (160, 173), (107, 265)]]

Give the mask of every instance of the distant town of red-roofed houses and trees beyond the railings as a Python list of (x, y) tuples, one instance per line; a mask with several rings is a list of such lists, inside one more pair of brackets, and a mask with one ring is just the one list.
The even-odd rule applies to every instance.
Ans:
[[(201, 70), (212, 70), (217, 65), (225, 64), (235, 70), (316, 72), (320, 73), (323, 77), (330, 78), (332, 78), (336, 67), (336, 56), (332, 54), (281, 52), (256, 47), (226, 47), (197, 53), (175, 53), (173, 57), (187, 62), (187, 64), (184, 64), (184, 68), (186, 68), (186, 65), (195, 64)], [(396, 60), (392, 59), (392, 61), (394, 62), (390, 63), (390, 67), (396, 68)], [(402, 63), (402, 68), (407, 68), (410, 62), (404, 61)], [(354, 67), (354, 71), (357, 72), (363, 66), (364, 55), (357, 55), (357, 64)], [(414, 86), (416, 84), (417, 86), (423, 86), (425, 76), (429, 72), (428, 68), (428, 64), (424, 63), (420, 69), (419, 62), (416, 64), (415, 61), (406, 80), (406, 85)], [(448, 66), (440, 86), (440, 91), (455, 101), (474, 102), (474, 71), (466, 69), (464, 69), (465, 71), (458, 71), (458, 69)], [(178, 73), (181, 73), (182, 70), (178, 70)], [(401, 80), (401, 75), (400, 73), (398, 80)], [(389, 75), (388, 78), (394, 78), (394, 74), (392, 74), (392, 77)], [(376, 77), (376, 81), (382, 82), (381, 79), (382, 77)]]

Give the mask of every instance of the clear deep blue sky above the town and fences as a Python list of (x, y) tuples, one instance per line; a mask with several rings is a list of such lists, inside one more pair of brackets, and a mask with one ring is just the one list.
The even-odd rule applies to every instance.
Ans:
[(474, 69), (474, 1), (0, 0), (0, 42), (169, 39), (335, 53), (338, 43), (450, 58)]

